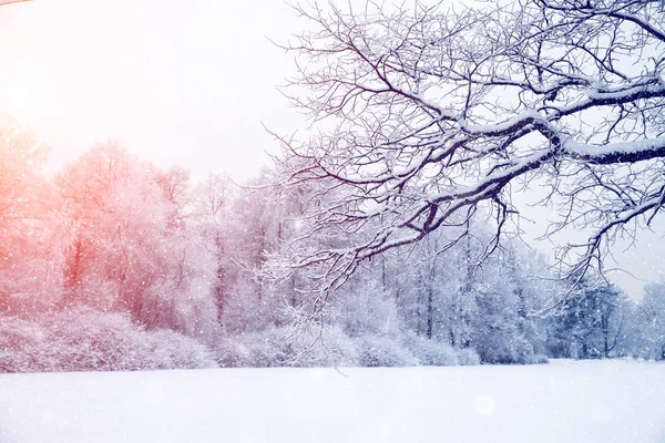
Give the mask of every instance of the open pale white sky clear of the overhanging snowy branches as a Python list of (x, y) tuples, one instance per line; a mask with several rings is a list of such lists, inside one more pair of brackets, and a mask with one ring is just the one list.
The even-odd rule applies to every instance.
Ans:
[[(295, 73), (286, 42), (307, 23), (286, 3), (212, 0), (33, 0), (0, 8), (0, 115), (33, 130), (57, 171), (110, 140), (161, 167), (236, 181), (256, 175), (303, 119), (277, 89)], [(533, 189), (538, 195), (538, 189)], [(528, 208), (533, 243), (552, 217)], [(665, 243), (642, 233), (615, 248), (633, 298), (663, 278)]]

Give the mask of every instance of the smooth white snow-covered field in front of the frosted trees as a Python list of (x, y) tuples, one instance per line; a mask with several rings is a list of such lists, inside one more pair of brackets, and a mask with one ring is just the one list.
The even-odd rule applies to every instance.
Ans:
[(665, 364), (0, 375), (0, 442), (665, 442)]

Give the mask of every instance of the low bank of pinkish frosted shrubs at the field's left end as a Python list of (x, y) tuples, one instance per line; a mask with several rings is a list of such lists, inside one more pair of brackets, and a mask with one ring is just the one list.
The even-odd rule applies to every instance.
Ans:
[(168, 330), (147, 331), (127, 315), (75, 309), (40, 323), (0, 316), (0, 371), (133, 371), (212, 368), (209, 351)]

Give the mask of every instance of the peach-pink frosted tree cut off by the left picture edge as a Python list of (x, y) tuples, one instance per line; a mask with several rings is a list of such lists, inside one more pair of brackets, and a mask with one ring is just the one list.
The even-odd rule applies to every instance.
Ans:
[(11, 119), (0, 119), (0, 311), (34, 313), (60, 301), (65, 218), (41, 174), (45, 150)]

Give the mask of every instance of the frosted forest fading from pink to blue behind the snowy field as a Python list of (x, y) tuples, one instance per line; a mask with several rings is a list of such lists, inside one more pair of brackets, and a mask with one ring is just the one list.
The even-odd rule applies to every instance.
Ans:
[[(279, 165), (235, 184), (113, 142), (54, 174), (47, 156), (2, 122), (2, 372), (665, 358), (665, 284), (635, 301), (592, 272), (561, 278), (516, 236), (488, 254), (491, 220), (371, 257), (317, 305), (316, 268), (274, 271), (321, 204), (264, 186)], [(326, 234), (311, 240), (347, 246)]]

